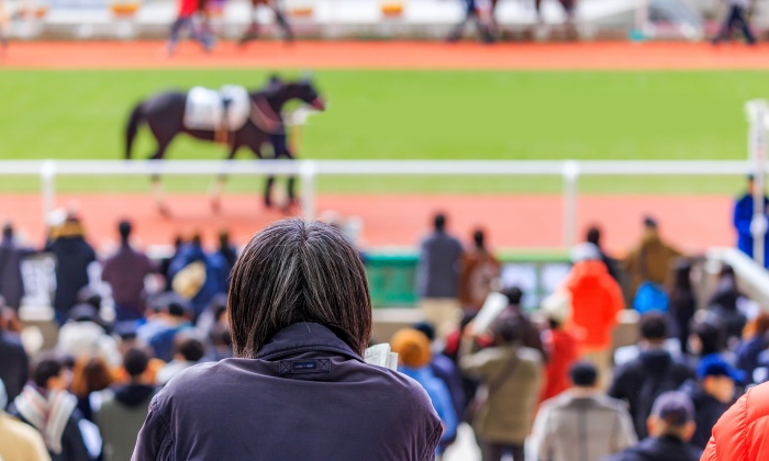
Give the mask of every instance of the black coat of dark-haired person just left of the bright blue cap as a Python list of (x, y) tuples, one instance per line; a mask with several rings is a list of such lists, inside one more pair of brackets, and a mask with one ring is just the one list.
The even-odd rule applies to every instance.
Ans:
[(638, 440), (648, 436), (646, 418), (651, 414), (654, 401), (666, 391), (676, 391), (694, 372), (673, 360), (661, 349), (644, 351), (640, 356), (616, 370), (609, 395), (622, 398), (629, 405), (631, 417)]

